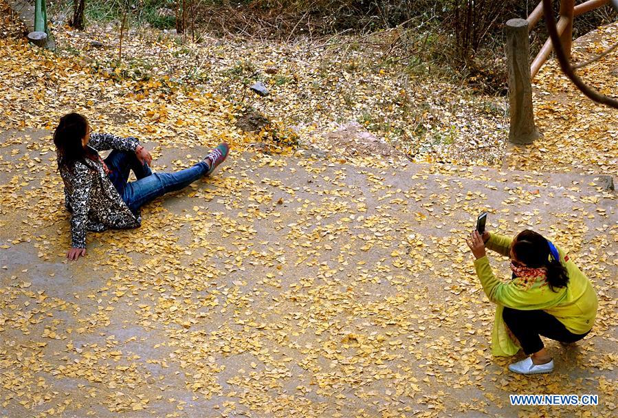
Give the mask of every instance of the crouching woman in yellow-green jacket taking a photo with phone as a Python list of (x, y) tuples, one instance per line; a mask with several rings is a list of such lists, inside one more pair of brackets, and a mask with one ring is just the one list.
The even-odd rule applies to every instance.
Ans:
[[(467, 244), (476, 257), (474, 267), (485, 294), (498, 305), (492, 353), (516, 354), (520, 347), (511, 339), (512, 333), (530, 357), (511, 364), (509, 370), (524, 375), (551, 373), (553, 360), (540, 336), (571, 343), (591, 331), (598, 305), (592, 283), (560, 248), (531, 230), (512, 240), (474, 231)], [(485, 247), (511, 258), (511, 281), (503, 283), (494, 276)]]

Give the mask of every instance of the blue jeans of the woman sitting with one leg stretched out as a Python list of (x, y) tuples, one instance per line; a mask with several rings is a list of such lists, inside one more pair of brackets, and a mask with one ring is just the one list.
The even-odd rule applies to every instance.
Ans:
[[(181, 190), (208, 172), (208, 164), (199, 162), (190, 168), (176, 173), (153, 173), (148, 164), (142, 164), (133, 151), (112, 151), (105, 159), (111, 170), (109, 179), (116, 190), (135, 214), (149, 201), (168, 192)], [(129, 181), (133, 170), (136, 181)]]

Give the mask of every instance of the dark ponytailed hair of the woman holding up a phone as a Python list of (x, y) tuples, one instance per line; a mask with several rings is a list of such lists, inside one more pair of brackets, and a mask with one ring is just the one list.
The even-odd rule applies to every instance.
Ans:
[(531, 230), (523, 230), (513, 241), (513, 252), (517, 261), (524, 263), (527, 267), (547, 269), (547, 283), (549, 288), (555, 292), (555, 288), (566, 287), (569, 283), (569, 274), (566, 268), (555, 260), (549, 259), (549, 243), (541, 234)]

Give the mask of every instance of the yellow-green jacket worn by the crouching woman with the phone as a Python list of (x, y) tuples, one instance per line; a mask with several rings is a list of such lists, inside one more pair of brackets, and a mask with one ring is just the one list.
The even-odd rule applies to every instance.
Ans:
[[(512, 239), (508, 236), (489, 234), (485, 247), (504, 256), (509, 256)], [(519, 281), (517, 278), (503, 282), (499, 281), (492, 267), (489, 266), (487, 256), (474, 261), (476, 274), (481, 280), (487, 298), (496, 303), (496, 318), (492, 332), (492, 353), (494, 355), (514, 355), (519, 347), (509, 338), (502, 318), (503, 307), (520, 310), (541, 309), (558, 319), (564, 327), (575, 334), (590, 331), (597, 316), (597, 294), (592, 283), (569, 260), (560, 248), (560, 263), (566, 267), (569, 274), (569, 283), (566, 287), (555, 289), (553, 292), (544, 278), (532, 283)]]

